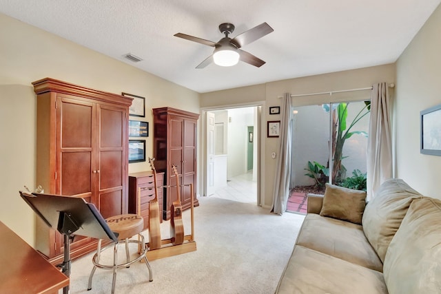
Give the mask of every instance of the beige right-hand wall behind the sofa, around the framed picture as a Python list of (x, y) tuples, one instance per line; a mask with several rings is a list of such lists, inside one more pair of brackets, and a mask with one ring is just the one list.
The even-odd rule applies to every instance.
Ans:
[(441, 157), (420, 154), (420, 111), (441, 104), (441, 6), (397, 61), (397, 177), (426, 196), (441, 198)]

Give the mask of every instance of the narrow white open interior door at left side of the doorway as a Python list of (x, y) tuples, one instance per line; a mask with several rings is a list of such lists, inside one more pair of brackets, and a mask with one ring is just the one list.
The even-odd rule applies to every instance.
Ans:
[(214, 194), (214, 113), (207, 114), (207, 177), (205, 179), (205, 196)]

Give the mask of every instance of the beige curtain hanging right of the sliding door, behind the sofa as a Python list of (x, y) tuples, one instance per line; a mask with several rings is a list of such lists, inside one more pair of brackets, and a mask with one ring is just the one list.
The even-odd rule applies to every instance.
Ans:
[(371, 118), (367, 140), (367, 199), (392, 177), (392, 143), (389, 88), (387, 83), (372, 86)]

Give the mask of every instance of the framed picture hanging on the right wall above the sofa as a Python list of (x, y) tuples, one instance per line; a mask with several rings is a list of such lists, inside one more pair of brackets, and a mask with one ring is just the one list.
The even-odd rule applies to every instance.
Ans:
[(420, 153), (441, 156), (441, 104), (420, 112)]

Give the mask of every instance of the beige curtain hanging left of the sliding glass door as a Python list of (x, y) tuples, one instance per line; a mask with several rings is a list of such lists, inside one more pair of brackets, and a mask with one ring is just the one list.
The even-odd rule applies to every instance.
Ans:
[(274, 177), (274, 193), (271, 212), (283, 214), (289, 196), (289, 180), (291, 178), (291, 94), (285, 93), (280, 107), (279, 149)]

